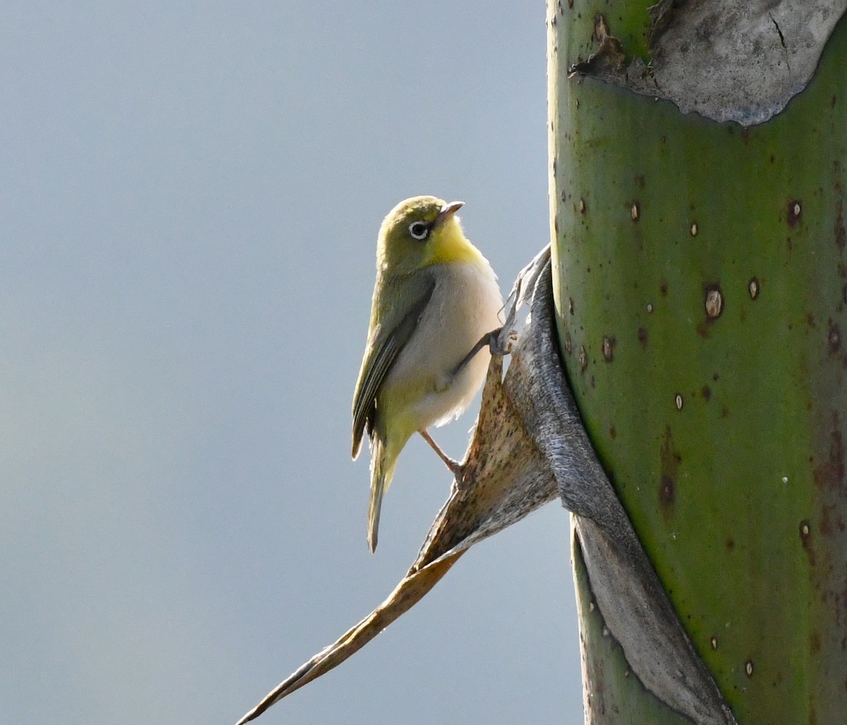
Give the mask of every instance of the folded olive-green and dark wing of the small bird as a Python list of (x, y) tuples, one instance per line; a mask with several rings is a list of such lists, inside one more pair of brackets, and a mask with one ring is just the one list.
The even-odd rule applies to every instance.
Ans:
[[(421, 284), (421, 277), (424, 274), (424, 284)], [(433, 275), (418, 272), (415, 277), (417, 278), (413, 281), (408, 277), (388, 281), (386, 287), (390, 286), (392, 289), (381, 290), (378, 283), (378, 292), (374, 294), (368, 352), (359, 371), (356, 393), (353, 393), (352, 455), (354, 459), (362, 448), (365, 428), (368, 429), (368, 435), (374, 429), (376, 395), (379, 386), (391, 370), (391, 365), (394, 365), (401, 349), (412, 337), (412, 332), (417, 327), (418, 320), (424, 314), (424, 309), (435, 290)], [(387, 310), (385, 305), (380, 305), (379, 294), (389, 292), (397, 302), (391, 306), (390, 310)], [(378, 309), (382, 310), (384, 318), (379, 325), (375, 324), (374, 319)]]

